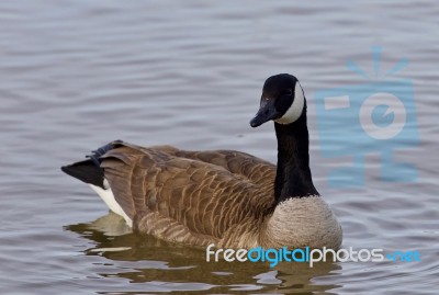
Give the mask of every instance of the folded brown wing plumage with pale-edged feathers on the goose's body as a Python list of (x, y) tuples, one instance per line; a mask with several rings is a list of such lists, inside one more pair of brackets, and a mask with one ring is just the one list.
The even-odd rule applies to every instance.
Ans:
[[(233, 155), (122, 144), (105, 154), (102, 167), (134, 228), (202, 245), (222, 239), (233, 226), (258, 218), (273, 206), (269, 166), (257, 163), (255, 172), (250, 166), (256, 158), (237, 152), (243, 159), (238, 164)], [(268, 188), (262, 171), (271, 179)], [(254, 179), (263, 181), (255, 183)]]

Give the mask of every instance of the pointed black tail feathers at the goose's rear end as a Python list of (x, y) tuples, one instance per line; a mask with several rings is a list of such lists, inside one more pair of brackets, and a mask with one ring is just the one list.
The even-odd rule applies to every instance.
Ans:
[(61, 167), (61, 170), (66, 174), (79, 179), (80, 181), (105, 189), (103, 184), (104, 174), (103, 169), (101, 168), (101, 157), (106, 151), (113, 149), (115, 145), (122, 143), (122, 140), (112, 141), (97, 150), (93, 150), (91, 155), (86, 156), (89, 158), (88, 160), (64, 166)]

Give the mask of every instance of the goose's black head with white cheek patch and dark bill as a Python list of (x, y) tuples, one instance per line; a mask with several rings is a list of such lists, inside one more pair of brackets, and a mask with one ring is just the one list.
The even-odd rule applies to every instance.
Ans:
[(263, 83), (260, 107), (250, 125), (258, 127), (270, 120), (291, 124), (302, 115), (304, 107), (305, 95), (297, 78), (289, 73), (271, 76)]

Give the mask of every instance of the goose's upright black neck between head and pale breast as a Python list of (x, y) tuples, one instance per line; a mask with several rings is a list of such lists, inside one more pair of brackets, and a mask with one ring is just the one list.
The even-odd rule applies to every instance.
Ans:
[(297, 121), (282, 125), (274, 123), (278, 137), (278, 171), (274, 182), (277, 203), (290, 197), (318, 195), (309, 170), (309, 136), (306, 106)]

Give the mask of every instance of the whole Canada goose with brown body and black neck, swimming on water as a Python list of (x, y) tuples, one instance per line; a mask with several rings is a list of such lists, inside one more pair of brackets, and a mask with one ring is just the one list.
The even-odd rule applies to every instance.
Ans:
[(187, 151), (116, 140), (63, 167), (138, 232), (227, 248), (331, 248), (342, 234), (314, 188), (306, 101), (299, 80), (267, 79), (257, 127), (274, 121), (278, 166), (235, 150)]

